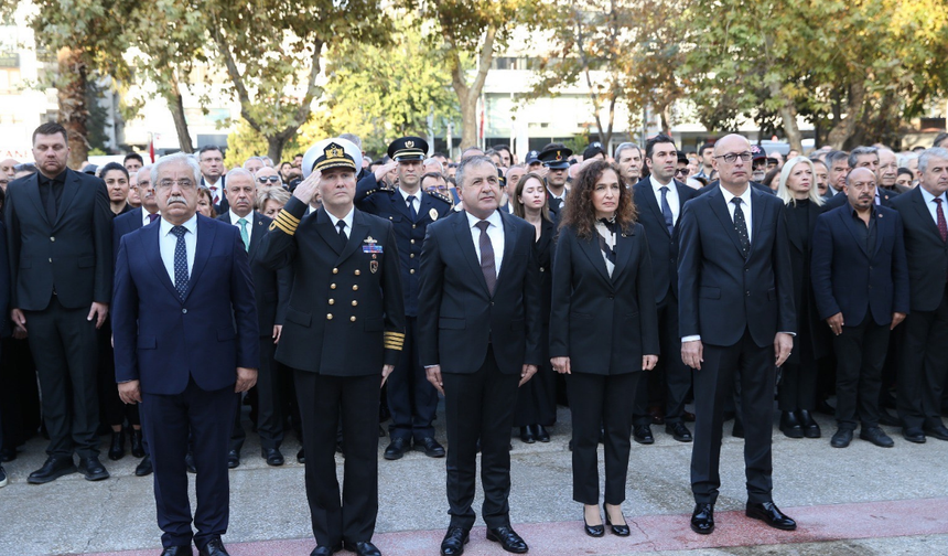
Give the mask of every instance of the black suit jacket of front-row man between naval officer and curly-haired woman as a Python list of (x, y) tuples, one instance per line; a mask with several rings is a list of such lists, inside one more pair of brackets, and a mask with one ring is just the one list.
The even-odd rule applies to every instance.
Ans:
[(421, 364), (443, 373), (474, 373), (488, 343), (502, 373), (540, 365), (540, 285), (534, 258), (536, 231), (498, 211), (504, 223), (504, 259), (494, 295), (481, 271), (467, 212), (428, 226), (421, 250), (418, 343)]

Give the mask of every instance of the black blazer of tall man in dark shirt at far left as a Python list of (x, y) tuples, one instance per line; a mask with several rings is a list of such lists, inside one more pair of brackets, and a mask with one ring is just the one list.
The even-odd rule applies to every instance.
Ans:
[(7, 186), (10, 307), (42, 311), (53, 291), (67, 309), (111, 301), (115, 217), (100, 179), (66, 169), (56, 222), (40, 196), (39, 174)]

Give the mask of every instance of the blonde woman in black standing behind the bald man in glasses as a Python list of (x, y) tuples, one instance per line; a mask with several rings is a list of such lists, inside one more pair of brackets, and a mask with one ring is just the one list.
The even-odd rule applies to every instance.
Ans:
[(821, 325), (810, 281), (810, 258), (817, 216), (823, 200), (816, 185), (814, 163), (806, 157), (788, 160), (780, 171), (777, 196), (787, 205), (787, 236), (794, 272), (794, 304), (797, 308), (797, 338), (780, 373), (777, 405), (780, 431), (789, 438), (819, 438), (814, 420), (817, 402), (817, 360), (828, 354), (827, 327)]

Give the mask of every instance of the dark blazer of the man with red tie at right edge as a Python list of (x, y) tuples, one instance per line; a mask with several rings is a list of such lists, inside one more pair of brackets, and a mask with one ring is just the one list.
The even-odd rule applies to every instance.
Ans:
[[(948, 243), (925, 206), (922, 186), (892, 200), (902, 216), (905, 258), (908, 261), (908, 299), (913, 311), (934, 311), (941, 304), (948, 277)], [(948, 206), (942, 206), (948, 217)]]

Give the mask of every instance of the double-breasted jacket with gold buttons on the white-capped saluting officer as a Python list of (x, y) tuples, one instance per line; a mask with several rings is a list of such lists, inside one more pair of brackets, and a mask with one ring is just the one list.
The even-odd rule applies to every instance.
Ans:
[(261, 265), (293, 274), (277, 361), (324, 375), (380, 374), (405, 341), (391, 223), (355, 209), (343, 247), (325, 209), (303, 218), (305, 212), (290, 199), (256, 254)]

